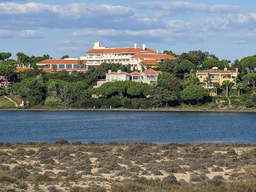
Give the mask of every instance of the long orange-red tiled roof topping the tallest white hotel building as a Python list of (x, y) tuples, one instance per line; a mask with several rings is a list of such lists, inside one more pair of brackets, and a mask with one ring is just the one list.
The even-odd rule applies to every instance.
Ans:
[(151, 53), (156, 54), (154, 50), (151, 48), (134, 48), (134, 47), (126, 47), (126, 48), (103, 48), (103, 49), (92, 49), (86, 52), (85, 54), (122, 54), (122, 53)]

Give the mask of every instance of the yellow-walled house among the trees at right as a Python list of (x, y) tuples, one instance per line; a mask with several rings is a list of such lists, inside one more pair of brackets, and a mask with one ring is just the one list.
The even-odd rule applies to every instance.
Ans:
[(238, 74), (238, 69), (236, 69), (236, 71), (227, 70), (227, 68), (220, 70), (216, 67), (212, 68), (211, 70), (202, 70), (196, 72), (200, 85), (206, 89), (213, 89), (214, 83), (219, 83), (222, 85), (225, 80), (233, 82), (235, 87)]

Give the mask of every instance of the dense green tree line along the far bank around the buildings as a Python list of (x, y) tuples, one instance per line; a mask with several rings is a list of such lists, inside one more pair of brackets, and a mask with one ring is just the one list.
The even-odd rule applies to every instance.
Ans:
[[(49, 55), (29, 57), (17, 53), (17, 61), (10, 59), (12, 54), (0, 53), (0, 75), (6, 77), (13, 86), (6, 93), (17, 94), (28, 106), (45, 105), (50, 107), (82, 107), (82, 108), (150, 108), (175, 107), (179, 105), (221, 105), (256, 106), (256, 55), (244, 57), (241, 61), (230, 63), (220, 60), (216, 55), (200, 50), (174, 54), (175, 60), (166, 60), (158, 64), (159, 75), (154, 85), (140, 84), (131, 81), (113, 82), (93, 88), (97, 80), (104, 79), (108, 70), (122, 70), (131, 73), (130, 66), (103, 63), (90, 67), (86, 73), (73, 71), (56, 71), (47, 73), (33, 68), (19, 73), (15, 72), (18, 65), (30, 65), (49, 59)], [(62, 59), (68, 58), (64, 55)], [(236, 89), (232, 82), (223, 85), (214, 83), (214, 89), (208, 90), (199, 86), (196, 70), (208, 70), (212, 67), (228, 70), (239, 70)], [(211, 82), (211, 79), (205, 79)], [(211, 97), (214, 92), (217, 96)]]

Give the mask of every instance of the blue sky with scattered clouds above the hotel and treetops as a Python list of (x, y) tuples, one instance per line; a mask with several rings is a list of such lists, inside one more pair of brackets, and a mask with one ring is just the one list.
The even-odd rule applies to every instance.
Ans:
[(0, 0), (0, 52), (80, 57), (94, 41), (221, 59), (256, 53), (255, 0)]

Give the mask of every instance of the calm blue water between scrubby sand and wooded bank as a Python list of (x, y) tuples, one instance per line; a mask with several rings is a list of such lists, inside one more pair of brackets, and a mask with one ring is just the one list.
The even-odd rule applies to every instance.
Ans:
[(256, 143), (256, 114), (0, 111), (3, 142)]

